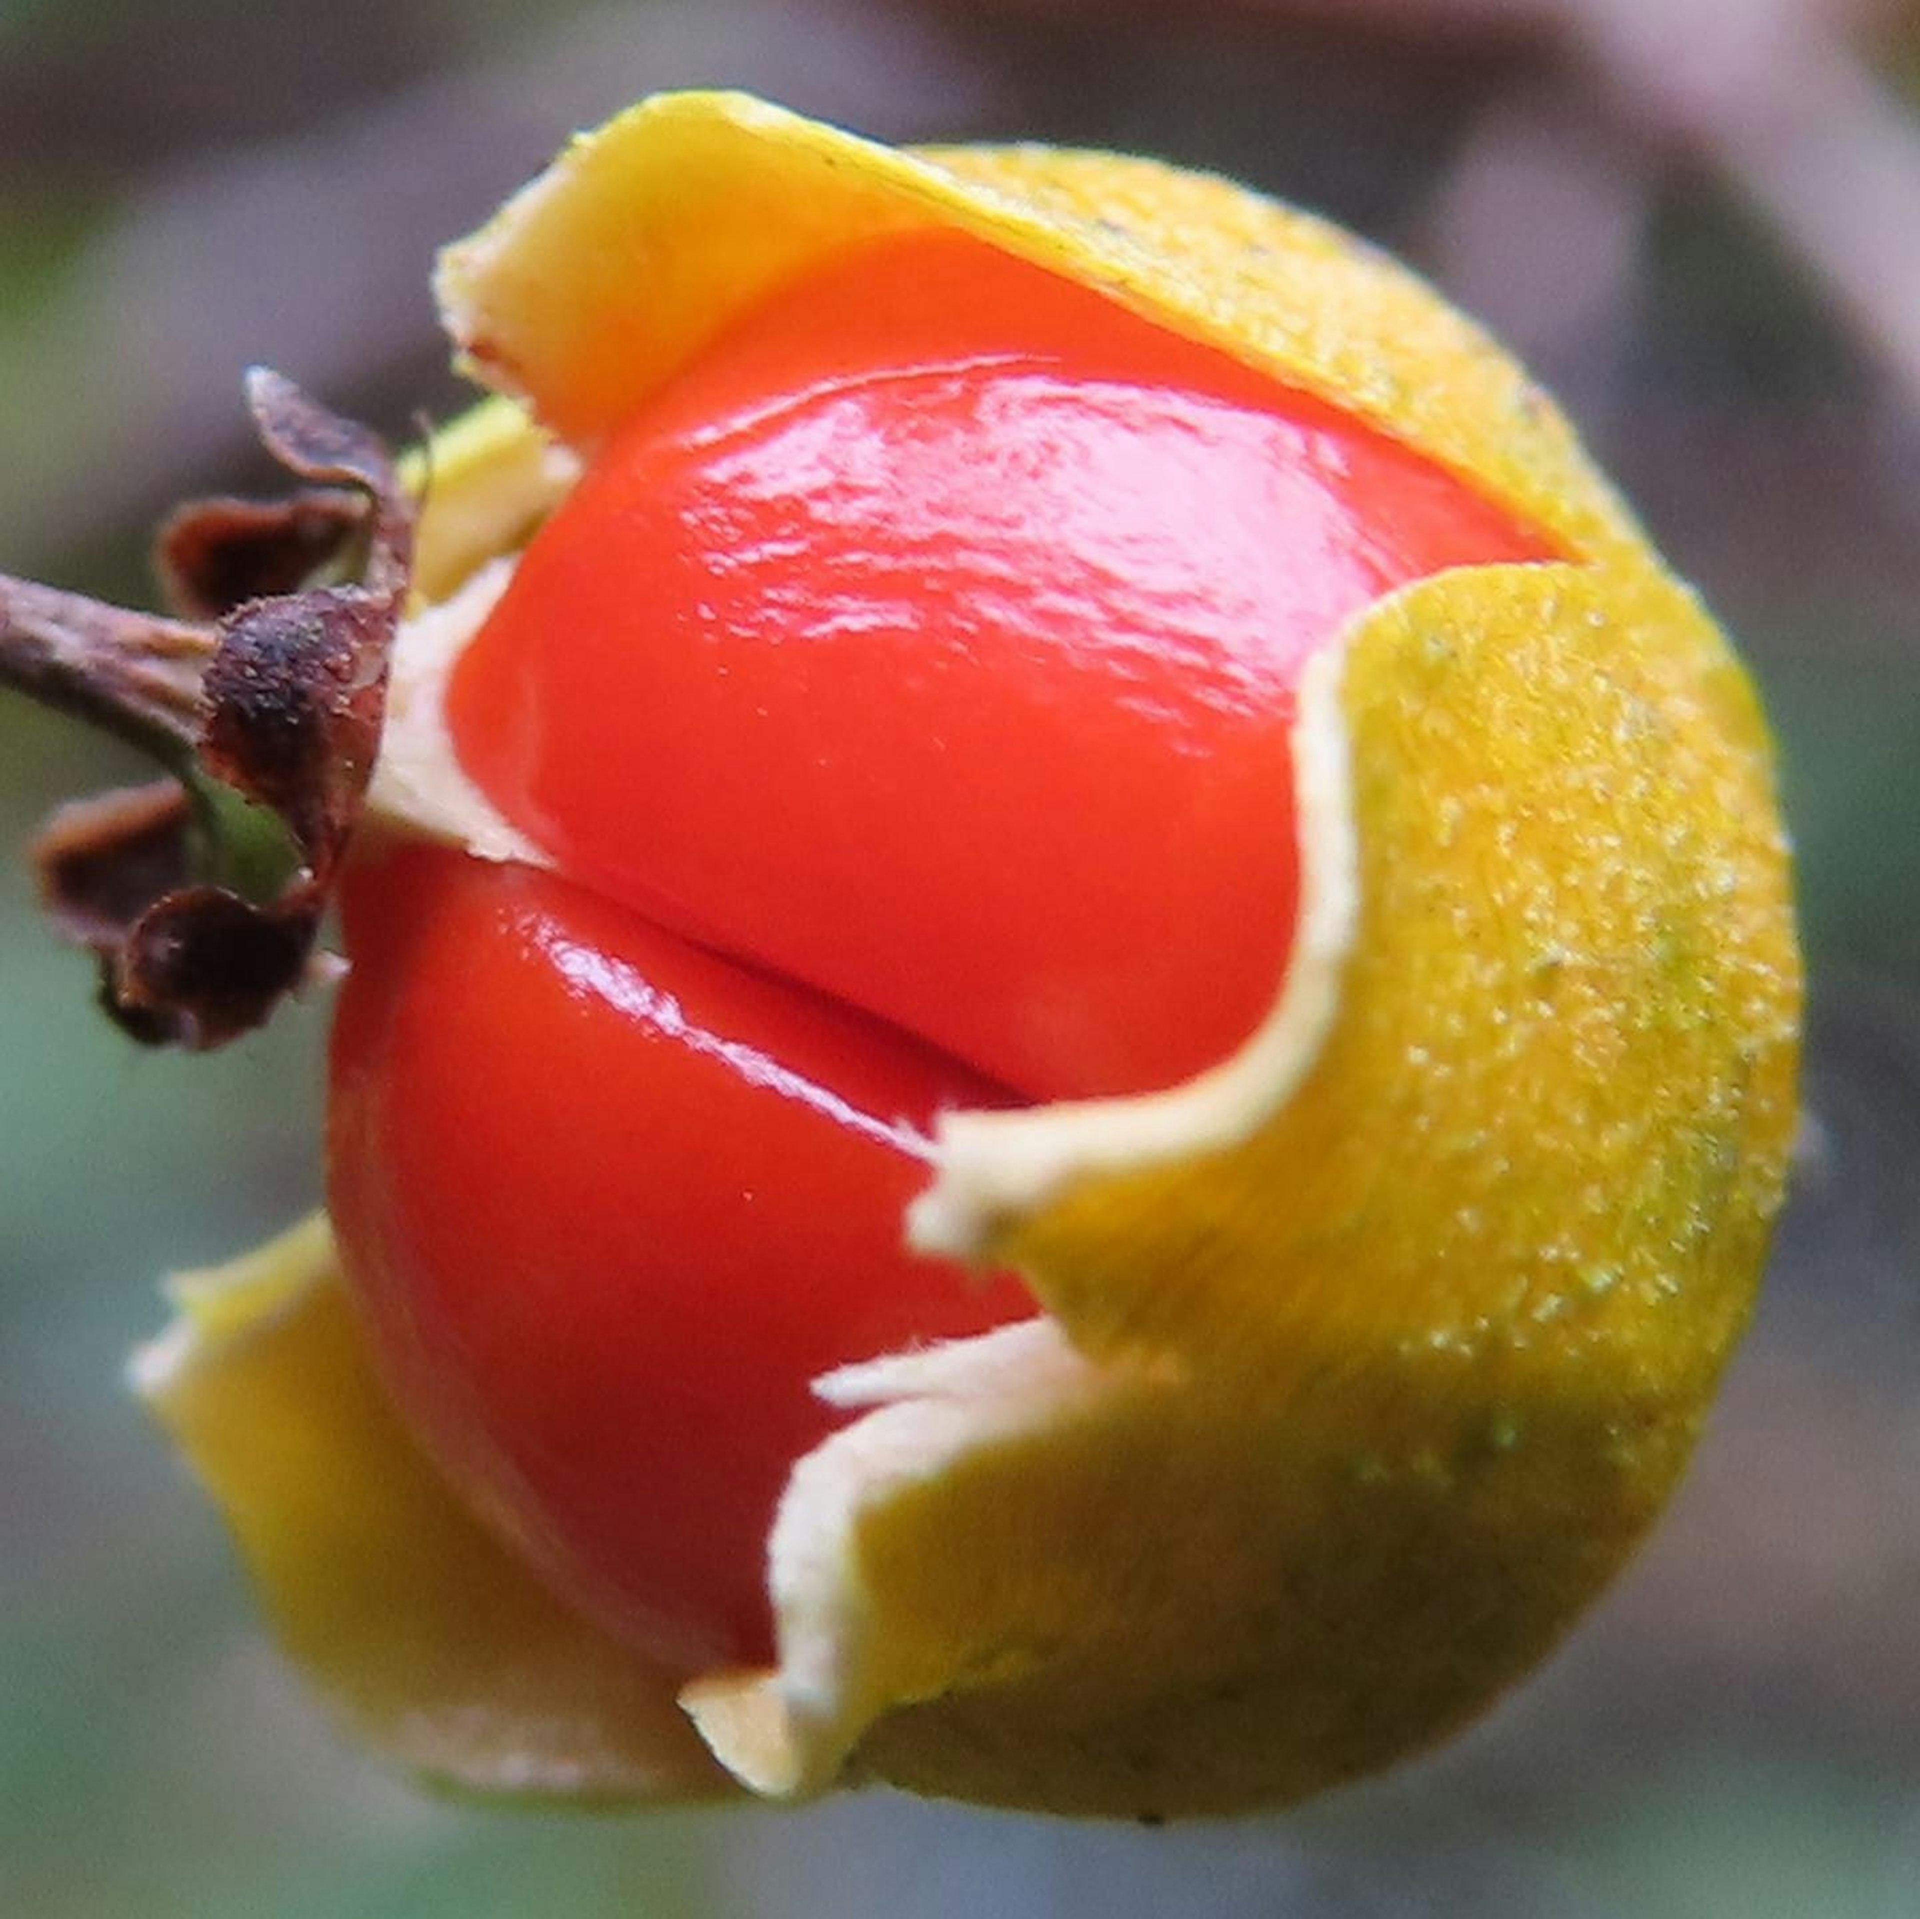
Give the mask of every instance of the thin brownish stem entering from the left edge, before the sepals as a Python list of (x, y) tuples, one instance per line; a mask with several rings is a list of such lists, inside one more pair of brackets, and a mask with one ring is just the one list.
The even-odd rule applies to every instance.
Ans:
[(0, 574), (0, 686), (86, 720), (184, 774), (205, 726), (211, 626), (129, 613)]

